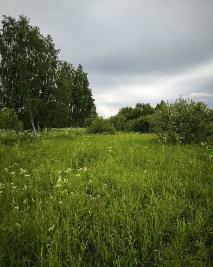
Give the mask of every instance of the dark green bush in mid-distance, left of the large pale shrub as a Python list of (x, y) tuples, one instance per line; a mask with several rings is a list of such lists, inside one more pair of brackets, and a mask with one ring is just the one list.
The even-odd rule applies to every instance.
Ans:
[(129, 120), (125, 125), (128, 132), (149, 133), (151, 116), (143, 116), (136, 120)]

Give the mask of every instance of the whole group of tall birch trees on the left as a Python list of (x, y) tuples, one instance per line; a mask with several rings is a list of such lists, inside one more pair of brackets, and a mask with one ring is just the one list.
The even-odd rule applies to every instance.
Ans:
[[(0, 111), (18, 116), (24, 129), (84, 126), (97, 116), (87, 73), (58, 58), (50, 35), (20, 15), (3, 15), (0, 31)], [(9, 116), (9, 115), (8, 115)]]

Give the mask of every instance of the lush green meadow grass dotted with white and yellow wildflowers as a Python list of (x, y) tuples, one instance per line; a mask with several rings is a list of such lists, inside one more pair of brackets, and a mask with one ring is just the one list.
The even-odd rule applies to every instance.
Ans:
[(70, 129), (0, 141), (0, 266), (213, 266), (211, 145)]

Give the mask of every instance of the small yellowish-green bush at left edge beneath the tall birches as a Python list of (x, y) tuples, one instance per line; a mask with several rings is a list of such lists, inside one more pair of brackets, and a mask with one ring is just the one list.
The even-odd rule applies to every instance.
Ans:
[(7, 108), (0, 114), (0, 129), (21, 131), (22, 128), (22, 122), (12, 109)]

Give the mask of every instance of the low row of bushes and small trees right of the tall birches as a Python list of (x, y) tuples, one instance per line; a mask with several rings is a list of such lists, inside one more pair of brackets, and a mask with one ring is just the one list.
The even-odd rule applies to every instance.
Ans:
[(174, 103), (161, 101), (156, 107), (138, 102), (135, 107), (122, 107), (114, 116), (97, 117), (89, 133), (114, 134), (115, 131), (156, 133), (162, 142), (173, 144), (213, 141), (213, 110), (203, 102), (182, 96)]

